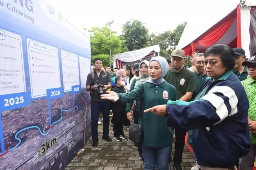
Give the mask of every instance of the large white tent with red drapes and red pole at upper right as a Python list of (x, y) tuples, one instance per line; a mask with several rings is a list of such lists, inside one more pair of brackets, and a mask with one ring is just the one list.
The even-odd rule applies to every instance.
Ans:
[[(221, 8), (221, 1), (218, 5)], [(197, 16), (202, 24), (193, 19), (187, 22), (177, 48), (191, 56), (195, 51), (205, 52), (212, 45), (225, 44), (243, 48), (250, 57), (256, 51), (256, 1), (230, 1), (228, 6), (220, 8), (201, 14), (207, 21)]]

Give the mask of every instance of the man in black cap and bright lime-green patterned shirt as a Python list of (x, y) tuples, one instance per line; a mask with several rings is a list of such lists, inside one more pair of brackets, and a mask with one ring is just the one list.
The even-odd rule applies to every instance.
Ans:
[(239, 170), (251, 170), (255, 164), (256, 156), (256, 55), (249, 61), (244, 61), (242, 65), (246, 66), (249, 78), (242, 81), (249, 100), (248, 122), (251, 136), (251, 150), (243, 156), (240, 162)]

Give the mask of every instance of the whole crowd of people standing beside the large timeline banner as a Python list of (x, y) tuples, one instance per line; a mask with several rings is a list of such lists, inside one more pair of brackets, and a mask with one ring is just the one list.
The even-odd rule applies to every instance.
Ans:
[(256, 156), (256, 54), (242, 48), (214, 45), (193, 54), (186, 68), (185, 52), (175, 49), (124, 69), (102, 70), (94, 59), (87, 76), (91, 92), (93, 147), (98, 146), (98, 118), (103, 114), (102, 139), (109, 137), (112, 110), (114, 140), (127, 139), (123, 126), (143, 127), (138, 147), (144, 169), (168, 170), (175, 134), (173, 168), (182, 170), (185, 136), (193, 148), (191, 170), (251, 170)]

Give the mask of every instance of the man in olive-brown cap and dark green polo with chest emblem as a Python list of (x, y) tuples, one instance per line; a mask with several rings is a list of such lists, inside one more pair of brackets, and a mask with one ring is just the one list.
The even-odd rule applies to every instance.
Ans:
[[(164, 79), (175, 87), (177, 99), (190, 101), (193, 93), (197, 92), (193, 72), (184, 68), (185, 52), (182, 49), (175, 49), (171, 53), (172, 68)], [(182, 113), (181, 113), (182, 114)], [(173, 168), (181, 170), (182, 153), (185, 145), (186, 130), (175, 128), (175, 154), (173, 156)]]

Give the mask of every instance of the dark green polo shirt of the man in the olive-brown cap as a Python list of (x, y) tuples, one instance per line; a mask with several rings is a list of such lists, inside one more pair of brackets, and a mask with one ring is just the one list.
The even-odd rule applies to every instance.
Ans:
[(193, 72), (184, 67), (179, 72), (175, 72), (173, 68), (170, 68), (164, 79), (175, 87), (178, 100), (187, 92), (197, 92)]

